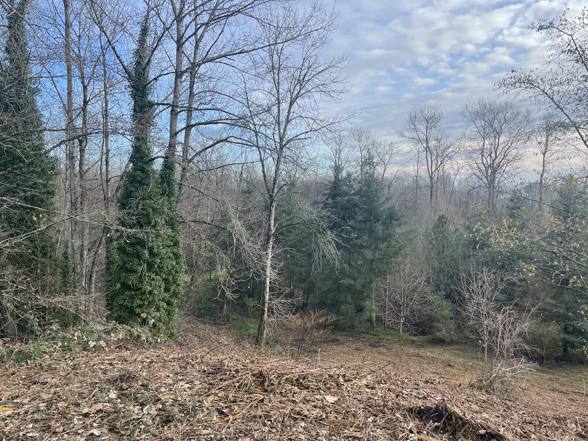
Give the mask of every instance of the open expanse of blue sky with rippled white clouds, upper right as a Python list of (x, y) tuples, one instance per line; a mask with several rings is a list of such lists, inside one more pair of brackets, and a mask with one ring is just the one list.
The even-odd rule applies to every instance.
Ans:
[[(573, 13), (583, 3), (567, 6)], [(546, 59), (549, 41), (529, 25), (564, 8), (561, 0), (339, 0), (329, 50), (348, 56), (351, 91), (329, 110), (362, 111), (358, 125), (396, 137), (410, 109), (439, 102), (456, 133), (460, 103), (496, 98), (506, 72)]]

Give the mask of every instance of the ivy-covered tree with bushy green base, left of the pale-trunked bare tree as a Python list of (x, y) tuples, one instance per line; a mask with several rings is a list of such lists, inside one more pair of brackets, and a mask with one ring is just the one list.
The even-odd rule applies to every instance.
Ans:
[(172, 337), (181, 296), (183, 260), (173, 162), (153, 167), (147, 18), (141, 26), (130, 78), (133, 101), (131, 170), (119, 197), (119, 228), (111, 235), (107, 306), (118, 322), (138, 322)]

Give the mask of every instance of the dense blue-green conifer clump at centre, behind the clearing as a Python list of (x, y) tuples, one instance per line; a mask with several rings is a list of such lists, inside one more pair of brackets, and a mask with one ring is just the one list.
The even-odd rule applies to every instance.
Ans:
[(377, 280), (399, 252), (400, 216), (383, 196), (369, 155), (357, 180), (335, 166), (324, 206), (330, 229), (339, 240), (343, 265), (323, 280), (326, 301), (319, 305), (338, 315), (339, 329), (357, 329), (369, 317)]

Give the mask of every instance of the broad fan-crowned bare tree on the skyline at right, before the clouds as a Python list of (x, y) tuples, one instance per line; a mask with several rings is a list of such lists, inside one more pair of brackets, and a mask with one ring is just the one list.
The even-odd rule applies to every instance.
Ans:
[(463, 104), (460, 115), (470, 171), (487, 191), (487, 208), (494, 209), (501, 186), (523, 159), (523, 148), (530, 139), (531, 113), (512, 101), (478, 98)]

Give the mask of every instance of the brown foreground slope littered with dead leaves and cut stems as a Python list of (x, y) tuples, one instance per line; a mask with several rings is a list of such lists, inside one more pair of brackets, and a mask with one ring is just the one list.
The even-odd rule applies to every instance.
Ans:
[[(445, 357), (408, 342), (336, 338), (312, 358), (279, 358), (238, 348), (204, 326), (181, 332), (177, 342), (158, 348), (55, 355), (1, 370), (0, 439), (579, 441), (587, 436), (585, 396), (578, 405), (564, 408), (562, 401), (550, 412), (520, 397), (503, 400), (476, 392), (466, 386), (475, 368), (467, 355), (462, 366), (459, 350), (452, 354), (446, 348)], [(462, 373), (463, 379), (456, 377)], [(562, 390), (549, 396), (565, 395), (566, 383), (552, 383)], [(533, 387), (539, 390), (540, 383)]]

